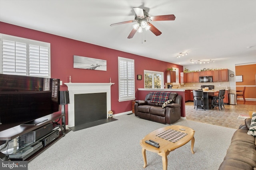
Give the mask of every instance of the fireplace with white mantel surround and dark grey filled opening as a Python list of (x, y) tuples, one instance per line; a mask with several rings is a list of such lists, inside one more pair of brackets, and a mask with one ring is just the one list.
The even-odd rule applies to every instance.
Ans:
[[(70, 98), (70, 104), (68, 104), (68, 127), (108, 118), (108, 111), (111, 110), (111, 85), (114, 83), (64, 84), (68, 86)], [(100, 95), (103, 96), (100, 97)], [(95, 97), (95, 99), (93, 100), (92, 97)], [(103, 102), (102, 98), (106, 102)], [(88, 101), (92, 103), (90, 106), (84, 107)], [(101, 102), (104, 106), (95, 112), (96, 107), (98, 109), (97, 104)], [(88, 107), (90, 107), (90, 111), (88, 111)], [(98, 112), (101, 113), (98, 115)], [(88, 115), (86, 116), (86, 114)]]

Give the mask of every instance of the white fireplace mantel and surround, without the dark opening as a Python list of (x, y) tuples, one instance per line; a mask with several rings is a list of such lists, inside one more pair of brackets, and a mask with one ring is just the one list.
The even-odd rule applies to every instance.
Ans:
[(64, 83), (68, 86), (69, 101), (68, 104), (68, 127), (75, 126), (74, 113), (74, 95), (75, 94), (90, 94), (90, 93), (106, 93), (107, 96), (107, 111), (111, 110), (111, 85), (114, 83)]

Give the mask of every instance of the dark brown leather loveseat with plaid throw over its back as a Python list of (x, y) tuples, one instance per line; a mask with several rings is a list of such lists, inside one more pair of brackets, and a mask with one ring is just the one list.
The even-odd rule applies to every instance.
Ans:
[(152, 94), (154, 93), (155, 92), (148, 93), (145, 100), (135, 101), (135, 116), (164, 124), (171, 124), (178, 121), (180, 119), (182, 96), (170, 92), (168, 100), (172, 100), (172, 103), (167, 104), (166, 107), (162, 108), (164, 102), (152, 102)]

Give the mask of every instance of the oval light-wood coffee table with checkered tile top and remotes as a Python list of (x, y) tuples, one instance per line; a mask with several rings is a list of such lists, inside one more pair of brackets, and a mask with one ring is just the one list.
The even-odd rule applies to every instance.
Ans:
[[(167, 170), (167, 156), (168, 154), (175, 150), (176, 148), (182, 147), (191, 140), (191, 152), (194, 154), (194, 133), (195, 131), (189, 127), (180, 125), (171, 125), (157, 129), (150, 134), (146, 135), (142, 140), (140, 140), (140, 145), (142, 146), (142, 156), (144, 159), (144, 168), (147, 166), (146, 150), (151, 152), (156, 152), (162, 156), (163, 169)], [(159, 143), (160, 147), (156, 148), (145, 141), (148, 140), (155, 141)]]

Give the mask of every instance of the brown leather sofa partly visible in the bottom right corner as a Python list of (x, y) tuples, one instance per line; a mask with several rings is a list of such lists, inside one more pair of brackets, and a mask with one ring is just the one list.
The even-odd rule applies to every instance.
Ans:
[(235, 131), (219, 170), (256, 170), (256, 137), (247, 134), (251, 120), (245, 119), (245, 124)]

